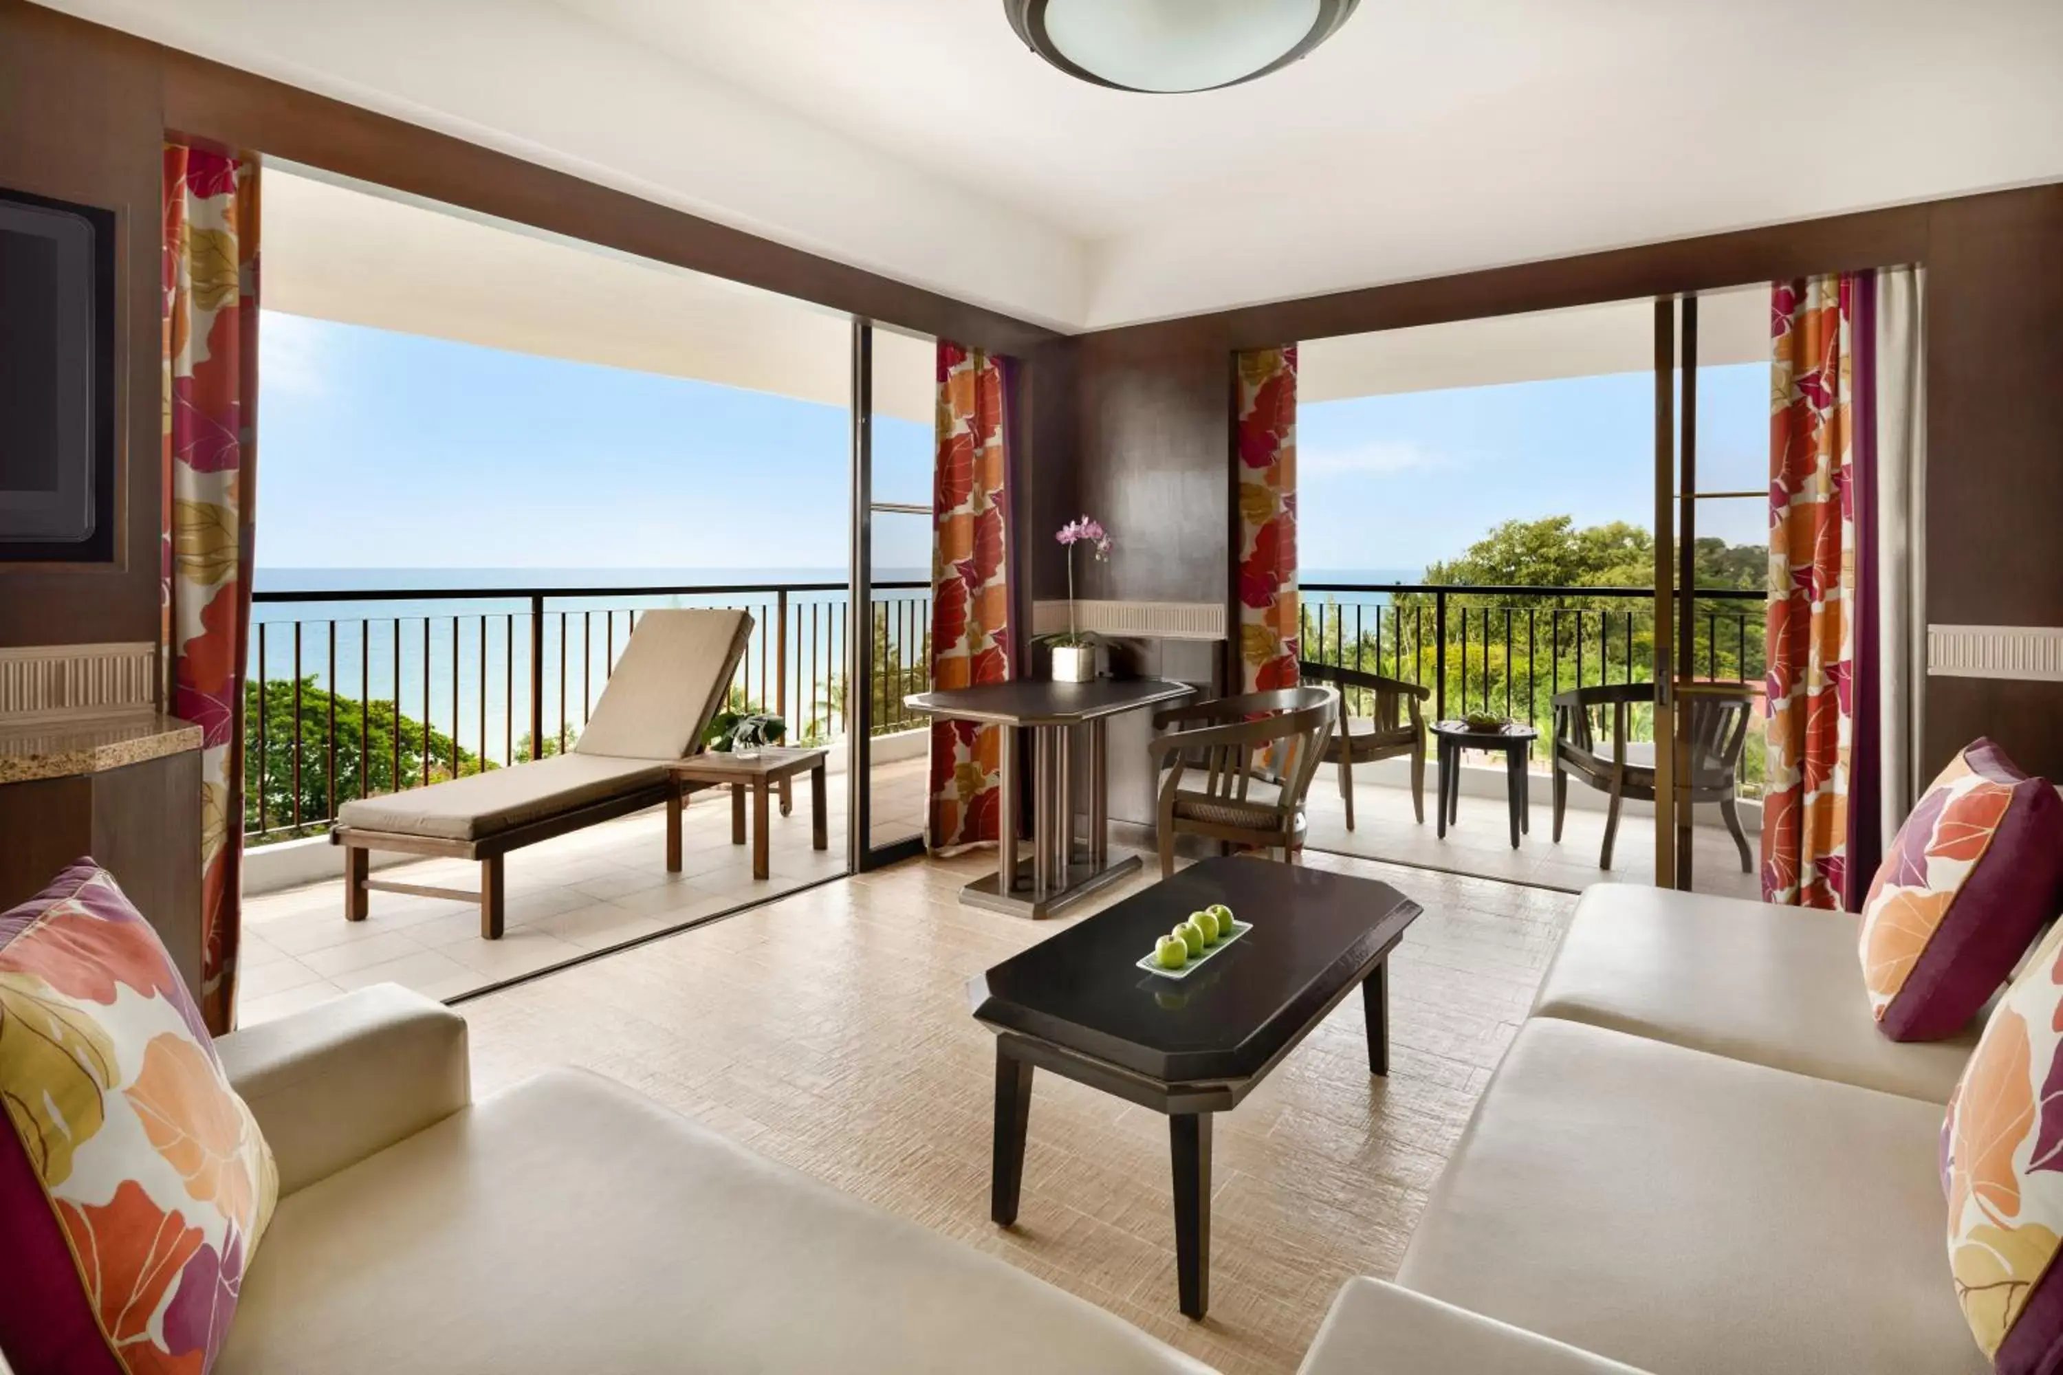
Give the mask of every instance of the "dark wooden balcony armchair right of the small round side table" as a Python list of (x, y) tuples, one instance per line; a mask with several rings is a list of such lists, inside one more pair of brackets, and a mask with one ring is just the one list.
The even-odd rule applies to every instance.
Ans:
[[(1642, 763), (1628, 763), (1628, 707), (1655, 705), (1652, 682), (1615, 682), (1556, 693), (1553, 699), (1553, 839), (1562, 841), (1562, 810), (1568, 802), (1570, 775), (1591, 787), (1611, 794), (1605, 810), (1605, 849), (1599, 868), (1611, 868), (1611, 841), (1619, 833), (1619, 802), (1655, 802), (1652, 746)], [(1747, 833), (1735, 806), (1739, 790), (1741, 750), (1747, 744), (1747, 724), (1754, 717), (1756, 693), (1741, 686), (1737, 695), (1698, 695), (1683, 699), (1690, 711), (1690, 787), (1679, 796), (1690, 804), (1718, 806), (1733, 843), (1741, 851), (1741, 872), (1754, 872)], [(1599, 750), (1599, 740), (1607, 746)]]

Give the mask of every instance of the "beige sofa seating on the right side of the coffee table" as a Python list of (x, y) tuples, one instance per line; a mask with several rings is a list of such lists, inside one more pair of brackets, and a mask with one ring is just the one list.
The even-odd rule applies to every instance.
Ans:
[(1937, 1156), (1976, 1027), (1884, 1039), (1855, 940), (1844, 913), (1584, 893), (1397, 1282), (1349, 1284), (1304, 1373), (1989, 1371)]

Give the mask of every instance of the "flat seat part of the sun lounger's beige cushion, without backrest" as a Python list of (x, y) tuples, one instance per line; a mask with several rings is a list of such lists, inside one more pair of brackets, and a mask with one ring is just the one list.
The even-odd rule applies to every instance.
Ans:
[(338, 825), (353, 831), (427, 835), (479, 841), (530, 820), (569, 812), (666, 781), (664, 759), (611, 759), (607, 754), (553, 754), (514, 769), (347, 802)]

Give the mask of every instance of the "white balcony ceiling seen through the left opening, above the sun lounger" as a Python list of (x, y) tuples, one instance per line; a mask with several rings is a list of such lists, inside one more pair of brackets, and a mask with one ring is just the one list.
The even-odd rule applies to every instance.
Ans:
[[(518, 227), (266, 169), (264, 305), (827, 406), (846, 315)], [(875, 334), (875, 408), (932, 423), (930, 340)]]

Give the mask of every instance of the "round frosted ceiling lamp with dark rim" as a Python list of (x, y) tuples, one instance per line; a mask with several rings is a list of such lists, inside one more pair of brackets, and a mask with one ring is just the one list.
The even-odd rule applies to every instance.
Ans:
[(1118, 91), (1215, 91), (1289, 66), (1360, 0), (1003, 0), (1032, 52)]

